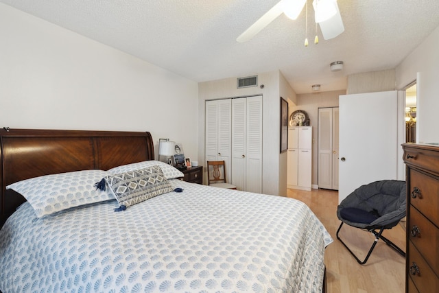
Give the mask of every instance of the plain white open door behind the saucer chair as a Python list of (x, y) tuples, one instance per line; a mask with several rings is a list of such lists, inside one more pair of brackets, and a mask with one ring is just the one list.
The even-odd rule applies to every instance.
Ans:
[(397, 92), (340, 95), (339, 202), (357, 187), (396, 179)]

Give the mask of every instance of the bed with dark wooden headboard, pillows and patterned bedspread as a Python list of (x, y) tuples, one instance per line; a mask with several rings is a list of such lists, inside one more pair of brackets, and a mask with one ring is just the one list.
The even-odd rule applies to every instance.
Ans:
[[(149, 132), (6, 128), (0, 139), (3, 293), (324, 290), (333, 239), (298, 200), (182, 181), (154, 161)], [(113, 184), (139, 168), (165, 192), (125, 207)], [(69, 188), (93, 200), (57, 194)]]

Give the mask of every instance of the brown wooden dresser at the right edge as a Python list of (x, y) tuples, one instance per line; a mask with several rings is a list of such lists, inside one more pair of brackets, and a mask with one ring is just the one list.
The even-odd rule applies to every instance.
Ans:
[(439, 292), (439, 147), (404, 143), (407, 166), (406, 292)]

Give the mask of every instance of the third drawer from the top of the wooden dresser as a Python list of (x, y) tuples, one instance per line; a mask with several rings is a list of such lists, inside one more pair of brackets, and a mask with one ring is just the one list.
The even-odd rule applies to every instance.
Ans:
[[(427, 263), (439, 276), (439, 229), (431, 224), (414, 207), (410, 207), (410, 226), (407, 226), (410, 241), (416, 246)], [(434, 248), (434, 249), (432, 249)]]

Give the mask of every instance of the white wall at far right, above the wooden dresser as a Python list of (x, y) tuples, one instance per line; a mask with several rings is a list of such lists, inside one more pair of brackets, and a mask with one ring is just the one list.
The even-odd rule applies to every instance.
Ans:
[(396, 89), (416, 80), (416, 142), (439, 143), (439, 27), (396, 67)]

